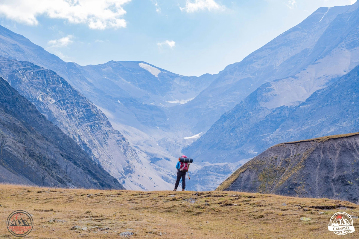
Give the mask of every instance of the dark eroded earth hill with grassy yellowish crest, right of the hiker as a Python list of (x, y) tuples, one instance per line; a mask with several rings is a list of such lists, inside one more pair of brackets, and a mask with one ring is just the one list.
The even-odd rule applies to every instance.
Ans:
[(359, 133), (277, 144), (237, 169), (217, 190), (359, 203)]

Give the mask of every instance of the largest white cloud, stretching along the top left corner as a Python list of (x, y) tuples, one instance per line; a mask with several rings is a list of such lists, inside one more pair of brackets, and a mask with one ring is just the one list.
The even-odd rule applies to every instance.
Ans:
[(125, 3), (131, 0), (1, 0), (0, 15), (8, 19), (37, 25), (37, 17), (65, 19), (69, 23), (86, 24), (91, 29), (126, 27), (121, 17)]

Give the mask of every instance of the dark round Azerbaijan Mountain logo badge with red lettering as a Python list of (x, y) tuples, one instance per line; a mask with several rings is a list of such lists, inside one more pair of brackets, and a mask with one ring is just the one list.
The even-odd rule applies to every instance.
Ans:
[(26, 236), (31, 232), (33, 223), (34, 221), (30, 214), (18, 210), (10, 214), (6, 221), (6, 226), (14, 236)]

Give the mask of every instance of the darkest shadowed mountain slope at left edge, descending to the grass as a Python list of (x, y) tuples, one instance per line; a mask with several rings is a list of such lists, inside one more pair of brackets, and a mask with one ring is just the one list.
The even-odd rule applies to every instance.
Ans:
[(1, 77), (0, 142), (2, 183), (123, 189)]

